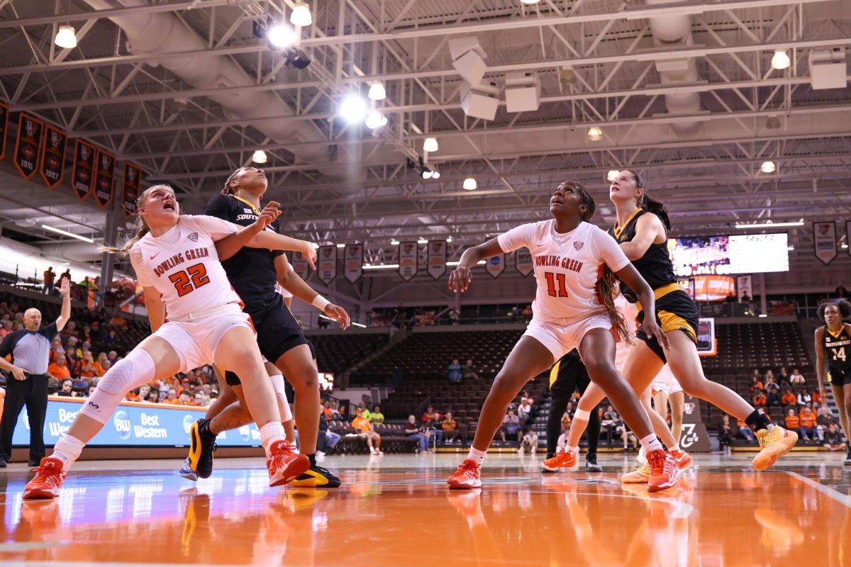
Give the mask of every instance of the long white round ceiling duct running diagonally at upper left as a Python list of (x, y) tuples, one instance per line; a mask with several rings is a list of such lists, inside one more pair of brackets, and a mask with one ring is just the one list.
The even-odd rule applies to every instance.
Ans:
[[(85, 0), (94, 9), (132, 8), (150, 5), (149, 0)], [(163, 65), (194, 88), (233, 88), (253, 86), (254, 79), (248, 76), (232, 60), (224, 55), (195, 55), (168, 57), (157, 60), (157, 54), (181, 51), (204, 51), (207, 43), (197, 37), (174, 14), (167, 12), (131, 13), (110, 18), (127, 34), (129, 51), (137, 55), (150, 55), (151, 63)], [(294, 111), (269, 91), (239, 94), (210, 94), (209, 99), (222, 105), (236, 118), (266, 134), (273, 143), (323, 142), (327, 141), (312, 122), (290, 120)], [(269, 120), (269, 116), (280, 118)], [(259, 120), (264, 118), (264, 120)], [(252, 122), (254, 119), (256, 122)], [(299, 162), (328, 162), (328, 145), (299, 148), (293, 151)], [(345, 159), (346, 152), (339, 152)], [(323, 170), (323, 173), (334, 174)], [(351, 173), (348, 177), (351, 177)]]

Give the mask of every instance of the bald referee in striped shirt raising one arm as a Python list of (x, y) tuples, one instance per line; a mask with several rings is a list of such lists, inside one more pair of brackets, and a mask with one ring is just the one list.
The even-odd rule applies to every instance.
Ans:
[[(0, 368), (12, 372), (6, 384), (6, 401), (0, 417), (0, 468), (12, 456), (12, 434), (26, 404), (30, 421), (30, 466), (37, 467), (44, 456), (44, 414), (48, 409), (48, 364), (50, 342), (71, 319), (71, 281), (62, 280), (62, 310), (54, 323), (39, 329), (42, 313), (26, 309), (24, 328), (10, 332), (0, 343)], [(6, 357), (12, 354), (12, 362)]]

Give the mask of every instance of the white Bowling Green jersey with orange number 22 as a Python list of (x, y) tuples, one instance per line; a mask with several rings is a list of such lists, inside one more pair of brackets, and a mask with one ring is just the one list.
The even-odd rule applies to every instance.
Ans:
[(130, 248), (140, 285), (157, 288), (169, 320), (240, 302), (215, 250), (215, 241), (237, 230), (221, 218), (181, 215), (164, 235), (149, 232)]

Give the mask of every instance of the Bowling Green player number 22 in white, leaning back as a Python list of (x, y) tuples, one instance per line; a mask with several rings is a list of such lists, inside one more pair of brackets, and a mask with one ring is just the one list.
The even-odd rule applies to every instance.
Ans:
[(238, 368), (247, 378), (245, 398), (260, 428), (269, 484), (287, 483), (310, 463), (287, 450), (254, 328), (221, 267), (215, 241), (231, 238), (243, 246), (294, 250), (311, 264), (316, 258), (312, 244), (264, 230), (280, 214), (277, 203), (270, 203), (262, 218), (243, 228), (220, 218), (180, 216), (174, 190), (154, 185), (140, 195), (137, 211), (134, 237), (120, 249), (105, 249), (129, 252), (145, 292), (153, 334), (100, 378), (68, 433), (26, 484), (24, 498), (59, 496), (62, 481), (83, 446), (106, 425), (130, 389), (211, 362), (225, 369)]

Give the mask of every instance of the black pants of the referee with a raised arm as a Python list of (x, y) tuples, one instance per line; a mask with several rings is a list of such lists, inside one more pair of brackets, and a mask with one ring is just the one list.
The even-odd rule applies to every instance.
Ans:
[(3, 417), (0, 417), (0, 453), (6, 461), (12, 456), (12, 434), (24, 405), (30, 422), (30, 460), (38, 462), (44, 456), (44, 414), (48, 410), (46, 375), (30, 374), (26, 380), (14, 377), (7, 380)]

